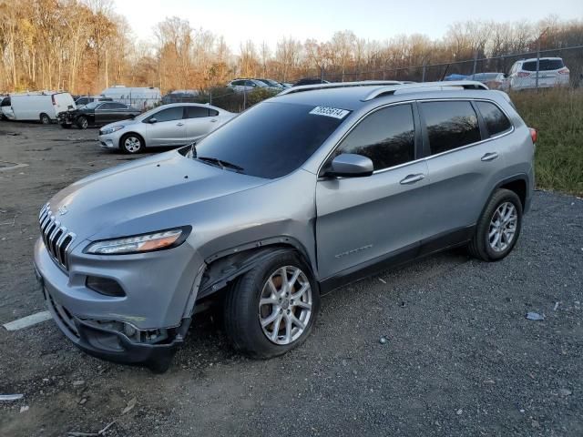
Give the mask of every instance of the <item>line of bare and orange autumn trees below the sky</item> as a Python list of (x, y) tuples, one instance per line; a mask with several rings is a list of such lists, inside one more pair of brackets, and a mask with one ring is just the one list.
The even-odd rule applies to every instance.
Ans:
[[(111, 0), (0, 0), (0, 17), (0, 92), (89, 94), (112, 85), (167, 92), (221, 86), (233, 77), (370, 79), (406, 66), (583, 45), (583, 21), (556, 16), (537, 23), (455, 23), (438, 39), (413, 34), (375, 41), (344, 30), (328, 41), (283, 37), (275, 46), (246, 40), (238, 47), (176, 16), (152, 29), (153, 43), (137, 41)], [(507, 69), (505, 62), (487, 67)]]

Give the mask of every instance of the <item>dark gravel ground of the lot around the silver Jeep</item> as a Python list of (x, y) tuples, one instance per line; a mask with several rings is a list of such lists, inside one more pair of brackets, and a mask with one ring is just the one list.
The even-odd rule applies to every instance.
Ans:
[[(0, 122), (0, 324), (44, 310), (31, 265), (39, 207), (130, 159), (96, 138)], [(240, 357), (210, 314), (163, 375), (88, 357), (52, 320), (0, 328), (0, 394), (25, 394), (0, 401), (0, 435), (115, 421), (104, 435), (580, 436), (582, 284), (583, 201), (537, 192), (507, 259), (448, 252), (337, 290), (312, 337), (279, 359)]]

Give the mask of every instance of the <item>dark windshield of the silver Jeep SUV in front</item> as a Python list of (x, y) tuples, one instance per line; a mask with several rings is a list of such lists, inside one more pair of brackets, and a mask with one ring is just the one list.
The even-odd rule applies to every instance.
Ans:
[(310, 114), (313, 106), (263, 102), (220, 127), (196, 146), (197, 158), (215, 158), (259, 178), (281, 178), (312, 156), (345, 119)]

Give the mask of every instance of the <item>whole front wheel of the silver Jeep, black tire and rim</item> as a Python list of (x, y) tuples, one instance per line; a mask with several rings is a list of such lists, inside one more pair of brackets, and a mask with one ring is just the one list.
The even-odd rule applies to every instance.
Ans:
[[(281, 287), (283, 268), (288, 283), (297, 277), (292, 290)], [(300, 273), (296, 275), (298, 270)], [(274, 290), (281, 292), (281, 298)], [(299, 293), (302, 295), (291, 299)], [(260, 306), (260, 301), (271, 302)], [(225, 330), (237, 351), (252, 358), (268, 359), (302, 344), (310, 335), (319, 310), (320, 293), (312, 269), (295, 252), (289, 251), (264, 260), (233, 284), (225, 297)]]

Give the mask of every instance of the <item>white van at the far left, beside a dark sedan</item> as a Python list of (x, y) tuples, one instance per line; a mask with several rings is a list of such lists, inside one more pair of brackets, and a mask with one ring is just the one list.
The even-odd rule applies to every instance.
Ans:
[(39, 91), (10, 95), (15, 120), (34, 120), (48, 125), (59, 112), (77, 109), (69, 93)]

